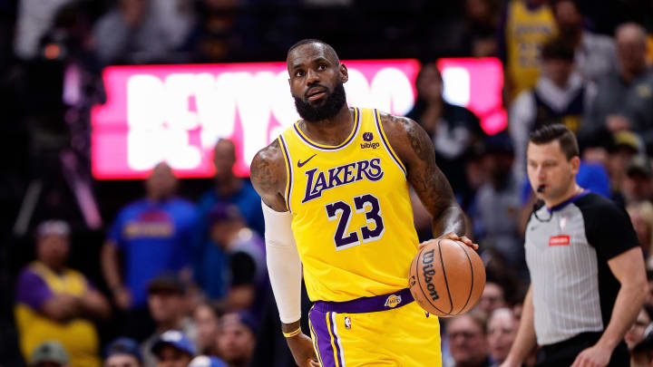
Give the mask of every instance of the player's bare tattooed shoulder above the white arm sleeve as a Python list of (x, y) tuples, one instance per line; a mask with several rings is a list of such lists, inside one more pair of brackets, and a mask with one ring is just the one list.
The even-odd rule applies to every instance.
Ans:
[(286, 185), (286, 166), (278, 140), (258, 150), (249, 167), (249, 179), (261, 196), (283, 191)]

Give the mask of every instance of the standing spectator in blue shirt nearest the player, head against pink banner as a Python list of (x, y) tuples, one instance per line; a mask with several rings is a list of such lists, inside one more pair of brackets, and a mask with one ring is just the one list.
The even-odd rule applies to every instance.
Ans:
[(210, 210), (216, 205), (234, 205), (240, 210), (247, 226), (263, 235), (263, 211), (260, 197), (246, 179), (240, 179), (234, 173), (236, 165), (236, 146), (233, 141), (220, 139), (213, 150), (215, 176), (214, 187), (205, 192), (199, 202), (201, 236), (196, 243), (193, 274), (195, 281), (211, 299), (227, 295), (228, 279), (225, 269), (228, 267), (227, 256), (221, 247), (215, 246), (210, 239)]

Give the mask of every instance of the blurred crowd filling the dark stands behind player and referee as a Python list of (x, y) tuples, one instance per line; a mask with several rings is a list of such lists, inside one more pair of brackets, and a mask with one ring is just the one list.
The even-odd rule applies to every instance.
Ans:
[[(432, 136), (487, 268), (473, 311), (441, 320), (443, 365), (499, 365), (510, 350), (529, 284), (526, 144), (552, 122), (578, 135), (580, 186), (618, 202), (636, 229), (651, 290), (625, 339), (633, 366), (652, 365), (653, 6), (374, 3), (0, 0), (0, 366), (294, 365), (260, 199), (234, 174), (239, 147), (216, 141), (212, 180), (180, 181), (161, 162), (143, 182), (96, 181), (89, 116), (107, 65), (278, 61), (307, 37), (343, 59), (423, 61), (407, 116)], [(506, 130), (489, 136), (445, 101), (444, 56), (502, 61)], [(432, 236), (419, 200), (414, 221)], [(303, 303), (307, 313), (305, 292)]]

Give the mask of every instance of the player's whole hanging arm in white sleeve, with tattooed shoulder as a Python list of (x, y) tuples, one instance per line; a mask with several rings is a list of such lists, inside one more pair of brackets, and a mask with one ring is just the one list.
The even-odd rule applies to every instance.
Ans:
[[(252, 186), (263, 200), (266, 224), (266, 257), (272, 291), (281, 318), (281, 331), (293, 333), (301, 318), (301, 262), (290, 229), (283, 192), (286, 188), (286, 164), (278, 140), (258, 151), (249, 168)], [(286, 338), (298, 366), (317, 367), (313, 342), (305, 333)]]

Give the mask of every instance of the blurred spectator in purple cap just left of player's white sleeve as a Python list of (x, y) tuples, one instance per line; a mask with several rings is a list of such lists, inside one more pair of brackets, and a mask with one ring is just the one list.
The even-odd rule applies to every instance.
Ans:
[(269, 294), (263, 239), (247, 227), (235, 205), (216, 204), (209, 218), (211, 240), (228, 256), (228, 309), (248, 309), (260, 317)]

